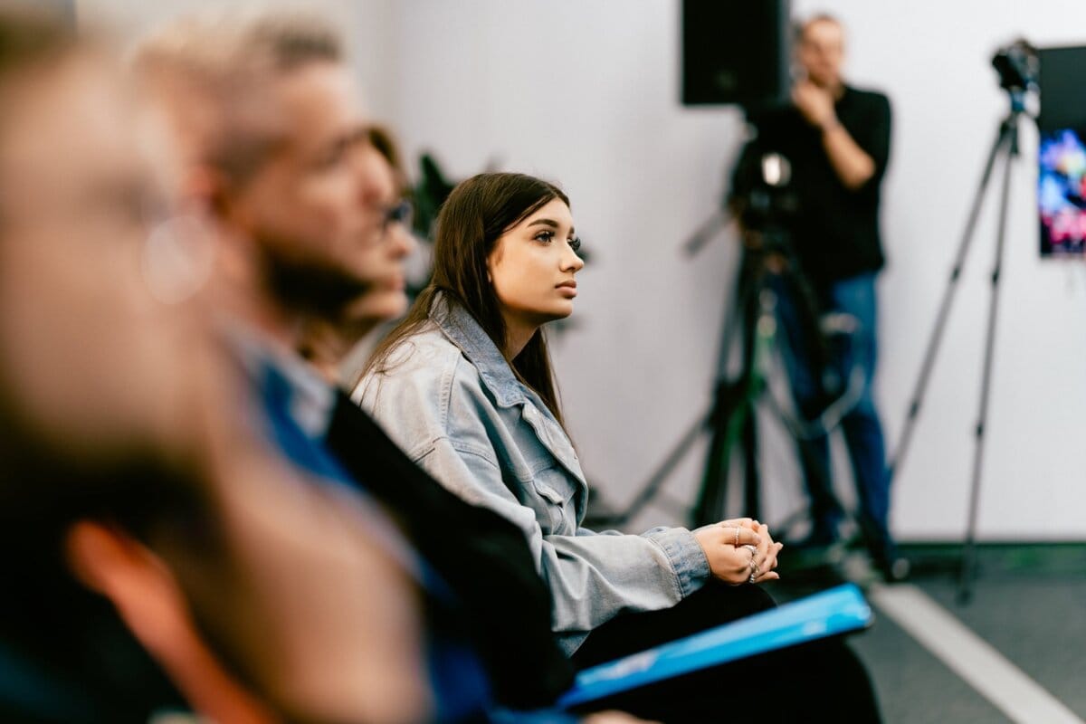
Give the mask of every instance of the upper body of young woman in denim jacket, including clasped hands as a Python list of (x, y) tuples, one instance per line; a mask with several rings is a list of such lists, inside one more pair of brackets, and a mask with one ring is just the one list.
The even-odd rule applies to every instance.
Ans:
[(465, 181), (439, 216), (430, 285), (356, 390), (413, 459), (521, 528), (570, 653), (617, 614), (670, 608), (714, 576), (778, 577), (780, 548), (746, 520), (694, 533), (581, 528), (588, 487), (542, 329), (572, 312), (579, 245), (557, 187), (520, 174)]

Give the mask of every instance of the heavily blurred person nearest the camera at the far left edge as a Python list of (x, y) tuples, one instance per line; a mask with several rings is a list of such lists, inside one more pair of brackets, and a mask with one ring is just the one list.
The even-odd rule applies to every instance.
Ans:
[(0, 717), (428, 720), (411, 571), (161, 300), (168, 138), (56, 26), (0, 48)]

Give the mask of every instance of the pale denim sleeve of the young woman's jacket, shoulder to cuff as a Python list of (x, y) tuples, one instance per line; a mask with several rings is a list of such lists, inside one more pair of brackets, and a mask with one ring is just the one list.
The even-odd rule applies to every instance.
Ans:
[[(519, 411), (510, 417), (498, 409), (458, 351), (445, 363), (440, 376), (432, 368), (382, 376), (379, 394), (367, 385), (361, 402), (447, 488), (523, 531), (551, 588), (552, 627), (567, 652), (618, 613), (669, 608), (705, 583), (708, 562), (685, 529), (596, 534), (574, 523), (563, 530), (560, 508), (568, 503), (545, 484), (525, 480), (523, 466), (515, 463), (523, 450), (510, 449), (516, 437), (508, 427)], [(455, 524), (450, 521), (451, 535)]]

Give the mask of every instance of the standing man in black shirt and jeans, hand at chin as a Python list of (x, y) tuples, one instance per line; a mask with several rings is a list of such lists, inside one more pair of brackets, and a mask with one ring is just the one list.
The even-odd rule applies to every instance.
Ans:
[[(889, 534), (889, 478), (882, 425), (872, 396), (875, 371), (875, 275), (883, 266), (879, 232), (880, 187), (889, 157), (891, 110), (882, 93), (854, 88), (842, 78), (844, 29), (829, 15), (804, 23), (796, 56), (806, 76), (792, 91), (793, 105), (757, 119), (759, 152), (782, 153), (792, 164), (792, 192), (798, 202), (788, 224), (796, 263), (819, 314), (844, 313), (856, 320), (849, 351), (830, 367), (842, 380), (862, 374), (859, 399), (842, 428), (856, 479), (859, 521), (872, 558), (889, 580), (905, 574)], [(748, 149), (749, 152), (750, 149)], [(810, 415), (824, 405), (820, 374), (804, 354), (817, 344), (797, 319), (795, 300), (782, 300), (790, 347), (793, 391)], [(803, 338), (807, 339), (803, 339)], [(825, 436), (805, 443), (801, 462), (811, 498), (812, 546), (830, 545), (842, 518), (830, 487)]]

